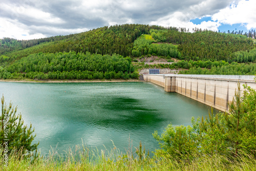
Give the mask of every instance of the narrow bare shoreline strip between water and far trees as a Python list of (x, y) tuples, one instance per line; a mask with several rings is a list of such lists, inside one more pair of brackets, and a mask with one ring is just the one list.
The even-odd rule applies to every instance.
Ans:
[(46, 80), (33, 80), (33, 79), (0, 79), (0, 82), (38, 82), (38, 83), (67, 83), (67, 82), (144, 82), (139, 79), (46, 79)]

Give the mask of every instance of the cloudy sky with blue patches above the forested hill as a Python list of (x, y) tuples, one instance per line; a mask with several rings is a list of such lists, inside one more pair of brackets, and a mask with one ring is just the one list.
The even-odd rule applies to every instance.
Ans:
[(256, 0), (0, 0), (0, 38), (34, 39), (116, 24), (256, 29)]

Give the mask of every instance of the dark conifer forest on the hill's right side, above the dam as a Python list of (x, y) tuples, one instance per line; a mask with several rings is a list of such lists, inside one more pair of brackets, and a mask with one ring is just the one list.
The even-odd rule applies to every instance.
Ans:
[[(250, 51), (255, 46), (252, 39), (243, 35), (197, 31), (186, 33), (176, 30), (150, 30), (152, 37), (160, 42), (178, 44), (180, 59), (237, 61), (233, 52)], [(231, 56), (230, 56), (231, 55)], [(249, 60), (248, 60), (249, 61)]]

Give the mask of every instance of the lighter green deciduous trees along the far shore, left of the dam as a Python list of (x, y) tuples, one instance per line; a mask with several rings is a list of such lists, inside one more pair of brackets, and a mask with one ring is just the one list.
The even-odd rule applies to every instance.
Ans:
[[(112, 79), (138, 78), (130, 57), (84, 53), (37, 53), (16, 60), (0, 71), (0, 78)], [(123, 74), (124, 73), (124, 74)]]

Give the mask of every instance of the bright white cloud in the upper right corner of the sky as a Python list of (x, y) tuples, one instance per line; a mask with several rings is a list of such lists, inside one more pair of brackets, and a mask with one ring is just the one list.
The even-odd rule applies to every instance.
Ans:
[(223, 24), (245, 24), (248, 30), (256, 28), (256, 1), (233, 2), (230, 7), (212, 15), (213, 20)]

